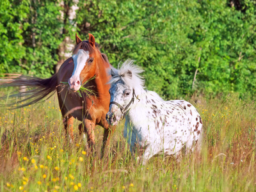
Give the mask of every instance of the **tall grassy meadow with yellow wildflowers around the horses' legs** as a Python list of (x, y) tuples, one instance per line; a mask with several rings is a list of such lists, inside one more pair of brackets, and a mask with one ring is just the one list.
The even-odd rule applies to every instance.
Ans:
[[(124, 122), (108, 158), (99, 159), (79, 140), (79, 122), (74, 144), (65, 138), (56, 95), (22, 109), (1, 108), (0, 191), (255, 191), (255, 103), (236, 98), (187, 99), (204, 124), (201, 156), (180, 163), (157, 156), (146, 166), (131, 157)], [(98, 155), (102, 133), (95, 128)]]

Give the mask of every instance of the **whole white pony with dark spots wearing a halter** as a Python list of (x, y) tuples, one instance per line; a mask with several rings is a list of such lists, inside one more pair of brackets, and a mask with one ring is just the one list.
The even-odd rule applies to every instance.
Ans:
[[(125, 116), (124, 137), (134, 154), (144, 148), (143, 164), (156, 154), (175, 155), (200, 150), (202, 120), (196, 108), (185, 100), (165, 101), (156, 92), (144, 89), (139, 75), (143, 70), (127, 60), (111, 69), (111, 100), (106, 119), (116, 125)], [(135, 146), (136, 145), (136, 146)]]

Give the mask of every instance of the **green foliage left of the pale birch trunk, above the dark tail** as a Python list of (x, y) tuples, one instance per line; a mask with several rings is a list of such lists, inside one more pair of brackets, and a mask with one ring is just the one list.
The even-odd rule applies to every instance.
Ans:
[(61, 21), (57, 1), (0, 3), (0, 73), (22, 72), (49, 77), (58, 61), (58, 47), (72, 26)]

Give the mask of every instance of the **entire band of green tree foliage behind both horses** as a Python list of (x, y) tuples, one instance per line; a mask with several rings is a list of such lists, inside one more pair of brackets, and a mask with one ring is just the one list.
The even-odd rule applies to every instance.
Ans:
[(77, 29), (83, 40), (92, 33), (115, 67), (136, 60), (147, 88), (168, 99), (256, 93), (253, 0), (239, 1), (239, 10), (221, 0), (79, 1), (72, 23), (61, 21), (56, 1), (18, 2), (1, 1), (0, 72), (49, 76), (58, 46)]

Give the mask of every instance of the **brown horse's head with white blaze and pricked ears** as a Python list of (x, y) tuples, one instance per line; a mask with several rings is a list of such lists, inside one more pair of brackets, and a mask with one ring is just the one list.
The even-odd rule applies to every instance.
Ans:
[(70, 90), (76, 92), (81, 85), (95, 75), (97, 65), (102, 62), (102, 54), (95, 46), (95, 38), (89, 33), (89, 40), (82, 41), (76, 35), (76, 47), (73, 51), (74, 71), (68, 84)]

